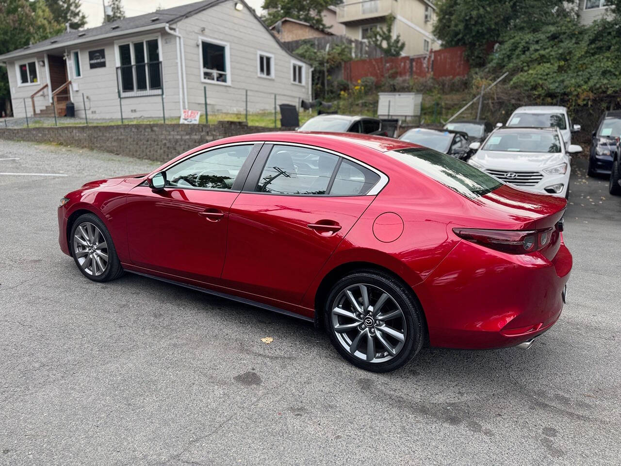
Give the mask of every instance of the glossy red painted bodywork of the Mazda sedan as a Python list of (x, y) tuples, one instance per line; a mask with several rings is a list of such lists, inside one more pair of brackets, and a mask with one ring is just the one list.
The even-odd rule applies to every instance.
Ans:
[[(566, 201), (508, 185), (478, 198), (450, 190), (383, 152), (415, 145), (353, 134), (276, 132), (214, 141), (289, 142), (343, 153), (388, 175), (376, 196), (152, 191), (146, 175), (87, 183), (58, 209), (65, 254), (69, 221), (96, 213), (111, 232), (126, 270), (248, 299), (314, 318), (330, 272), (355, 263), (399, 276), (422, 305), (432, 345), (484, 349), (519, 344), (559, 318), (572, 258), (555, 229), (543, 250), (524, 255), (487, 249), (455, 227), (528, 230), (553, 227)], [(201, 212), (221, 212), (211, 221)], [(330, 234), (309, 224), (335, 222)]]

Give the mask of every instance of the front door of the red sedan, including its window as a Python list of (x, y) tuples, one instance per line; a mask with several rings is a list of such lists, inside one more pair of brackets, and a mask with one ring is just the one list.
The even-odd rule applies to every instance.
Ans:
[[(199, 152), (165, 170), (166, 186), (140, 185), (127, 198), (134, 265), (206, 283), (222, 274), (229, 209), (260, 144)], [(242, 179), (243, 178), (243, 179)]]

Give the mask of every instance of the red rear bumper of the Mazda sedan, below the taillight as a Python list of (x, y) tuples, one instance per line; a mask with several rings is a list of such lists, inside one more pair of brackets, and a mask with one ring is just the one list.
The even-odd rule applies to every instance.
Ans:
[(563, 309), (572, 257), (509, 255), (462, 241), (414, 287), (433, 346), (492, 349), (519, 345), (550, 329)]

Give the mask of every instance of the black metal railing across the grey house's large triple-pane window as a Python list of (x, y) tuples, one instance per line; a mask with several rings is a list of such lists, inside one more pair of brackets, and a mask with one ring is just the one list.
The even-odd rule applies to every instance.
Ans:
[(117, 66), (119, 96), (159, 96), (163, 91), (161, 62)]

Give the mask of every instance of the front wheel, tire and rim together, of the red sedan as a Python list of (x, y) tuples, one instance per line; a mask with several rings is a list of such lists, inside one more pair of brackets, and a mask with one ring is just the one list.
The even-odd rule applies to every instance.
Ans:
[(83, 214), (73, 222), (69, 243), (73, 260), (86, 278), (109, 281), (123, 274), (112, 236), (95, 214)]

